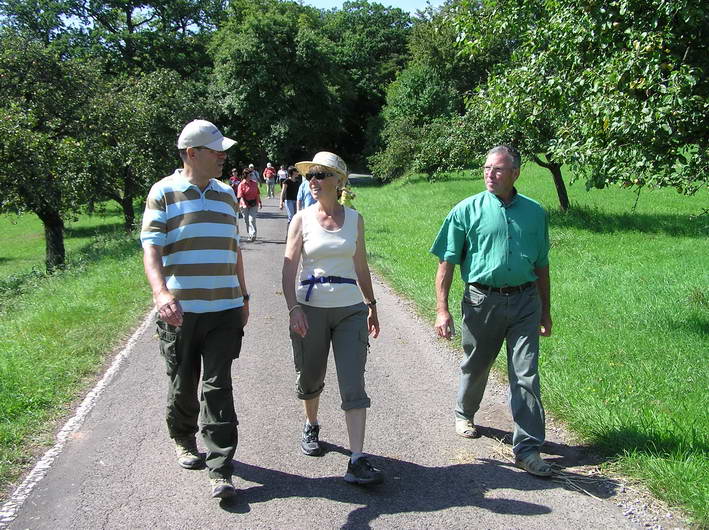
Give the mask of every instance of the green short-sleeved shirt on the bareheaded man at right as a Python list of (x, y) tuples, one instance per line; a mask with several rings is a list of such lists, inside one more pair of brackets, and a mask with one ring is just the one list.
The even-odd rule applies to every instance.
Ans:
[(534, 281), (534, 269), (549, 266), (546, 211), (519, 193), (504, 204), (493, 193), (483, 191), (451, 210), (431, 253), (441, 261), (460, 265), (467, 283), (506, 287)]

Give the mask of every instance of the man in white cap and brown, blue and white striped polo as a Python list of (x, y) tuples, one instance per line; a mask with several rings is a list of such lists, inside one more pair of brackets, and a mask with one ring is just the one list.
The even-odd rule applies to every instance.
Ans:
[(140, 235), (169, 376), (167, 426), (177, 462), (187, 469), (204, 467), (195, 438), (201, 414), (206, 466), (217, 498), (236, 493), (231, 364), (249, 318), (236, 197), (218, 180), (226, 150), (235, 143), (208, 121), (188, 123), (177, 140), (183, 168), (151, 188)]

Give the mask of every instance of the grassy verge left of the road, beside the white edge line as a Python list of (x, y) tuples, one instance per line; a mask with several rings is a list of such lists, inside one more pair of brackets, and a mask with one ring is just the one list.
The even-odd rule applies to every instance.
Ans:
[(51, 420), (149, 305), (140, 246), (120, 225), (112, 209), (69, 225), (68, 266), (46, 276), (41, 223), (0, 217), (0, 486), (51, 441)]

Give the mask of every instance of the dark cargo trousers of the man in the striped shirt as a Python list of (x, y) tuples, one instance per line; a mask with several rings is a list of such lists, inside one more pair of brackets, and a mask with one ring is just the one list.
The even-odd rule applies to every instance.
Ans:
[(160, 353), (170, 378), (167, 393), (170, 437), (194, 436), (201, 414), (209, 476), (230, 477), (239, 423), (234, 411), (231, 363), (241, 350), (242, 309), (185, 313), (182, 326), (158, 320), (157, 330)]

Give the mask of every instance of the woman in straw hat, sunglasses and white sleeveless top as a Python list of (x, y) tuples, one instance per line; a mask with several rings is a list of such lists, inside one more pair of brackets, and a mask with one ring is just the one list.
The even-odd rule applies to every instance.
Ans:
[(295, 166), (317, 200), (293, 217), (283, 259), (283, 295), (290, 315), (297, 395), (305, 411), (301, 450), (309, 456), (323, 451), (318, 408), (332, 343), (352, 453), (344, 479), (375, 484), (382, 481), (382, 472), (362, 453), (370, 406), (364, 388), (367, 335), (379, 335), (364, 221), (337, 202), (338, 187), (347, 180), (347, 166), (339, 156), (320, 152), (312, 161)]

